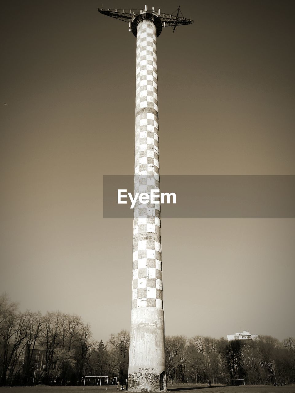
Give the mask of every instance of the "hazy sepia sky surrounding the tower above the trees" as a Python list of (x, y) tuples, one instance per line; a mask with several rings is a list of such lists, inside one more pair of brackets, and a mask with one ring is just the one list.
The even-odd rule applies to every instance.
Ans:
[[(102, 198), (103, 174), (134, 171), (136, 39), (98, 7), (2, 4), (0, 292), (107, 341), (130, 327), (133, 222), (103, 219)], [(183, 0), (194, 24), (157, 45), (161, 174), (295, 174), (294, 8)], [(295, 336), (294, 219), (161, 228), (166, 334)]]

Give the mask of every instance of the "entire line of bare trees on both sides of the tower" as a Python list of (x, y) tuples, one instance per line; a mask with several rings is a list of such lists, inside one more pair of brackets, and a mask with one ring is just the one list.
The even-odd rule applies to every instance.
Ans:
[[(20, 312), (7, 294), (0, 296), (0, 385), (81, 384), (83, 376), (128, 376), (130, 334), (122, 330), (104, 343), (77, 315)], [(295, 383), (295, 340), (205, 336), (166, 336), (170, 383)]]

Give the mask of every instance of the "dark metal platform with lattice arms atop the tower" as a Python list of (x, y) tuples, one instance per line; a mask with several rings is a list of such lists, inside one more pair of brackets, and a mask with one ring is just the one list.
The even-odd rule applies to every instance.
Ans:
[[(194, 23), (192, 19), (184, 18), (180, 7), (174, 12), (177, 15), (161, 13), (160, 9), (155, 11), (154, 7), (152, 9), (110, 9), (110, 8), (99, 8), (98, 12), (108, 17), (123, 20), (124, 22), (129, 22), (129, 31), (136, 37), (137, 25), (142, 20), (152, 20), (157, 28), (157, 37), (159, 37), (162, 28), (172, 27), (173, 32), (178, 26), (188, 25)], [(181, 14), (181, 15), (180, 15)]]

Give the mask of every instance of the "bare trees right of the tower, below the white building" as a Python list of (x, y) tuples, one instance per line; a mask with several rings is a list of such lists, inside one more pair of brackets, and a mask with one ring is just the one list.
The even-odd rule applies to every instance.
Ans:
[(170, 381), (235, 384), (295, 383), (295, 340), (271, 336), (233, 340), (205, 336), (166, 336), (166, 367)]

